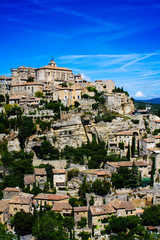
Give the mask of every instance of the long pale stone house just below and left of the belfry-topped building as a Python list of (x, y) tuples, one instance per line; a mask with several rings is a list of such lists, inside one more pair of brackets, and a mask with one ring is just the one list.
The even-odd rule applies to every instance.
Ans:
[(38, 82), (27, 82), (27, 83), (20, 83), (14, 84), (11, 87), (10, 95), (25, 95), (28, 97), (34, 97), (36, 92), (42, 92), (43, 84)]

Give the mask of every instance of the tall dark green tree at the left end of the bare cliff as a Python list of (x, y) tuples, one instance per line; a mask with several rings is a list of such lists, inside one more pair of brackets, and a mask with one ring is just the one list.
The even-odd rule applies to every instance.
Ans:
[(36, 133), (36, 126), (33, 123), (32, 119), (28, 117), (24, 117), (18, 133), (18, 138), (19, 138), (22, 149), (25, 147), (26, 139), (35, 133)]

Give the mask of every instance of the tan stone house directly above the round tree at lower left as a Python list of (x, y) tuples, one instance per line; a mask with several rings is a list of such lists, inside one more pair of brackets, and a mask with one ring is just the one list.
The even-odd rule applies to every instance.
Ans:
[(9, 201), (9, 215), (12, 217), (16, 212), (32, 212), (32, 194), (20, 193), (17, 196), (13, 196)]

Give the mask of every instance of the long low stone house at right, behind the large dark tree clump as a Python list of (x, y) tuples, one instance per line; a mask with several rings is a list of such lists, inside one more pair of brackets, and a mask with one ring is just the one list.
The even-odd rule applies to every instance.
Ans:
[[(150, 168), (145, 161), (134, 161), (135, 166), (138, 167), (138, 170), (141, 172), (142, 177), (146, 177), (149, 174)], [(132, 168), (133, 161), (121, 161), (121, 162), (107, 162), (105, 167), (107, 167), (108, 170), (110, 170), (111, 173), (114, 173), (118, 170), (120, 167), (127, 167)]]

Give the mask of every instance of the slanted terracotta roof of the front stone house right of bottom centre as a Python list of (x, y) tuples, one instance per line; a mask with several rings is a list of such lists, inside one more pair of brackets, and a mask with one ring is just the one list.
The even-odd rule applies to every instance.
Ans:
[(116, 210), (110, 204), (91, 206), (90, 211), (92, 213), (92, 216), (116, 213)]

